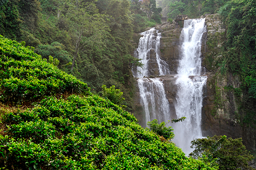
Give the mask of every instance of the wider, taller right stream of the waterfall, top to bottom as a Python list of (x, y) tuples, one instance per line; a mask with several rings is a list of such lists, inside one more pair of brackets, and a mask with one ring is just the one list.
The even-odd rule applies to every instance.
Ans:
[(205, 19), (184, 20), (181, 33), (180, 63), (177, 78), (177, 103), (175, 106), (177, 117), (185, 116), (184, 122), (175, 124), (175, 143), (189, 154), (190, 141), (202, 138), (201, 110), (203, 102), (203, 87), (207, 77), (200, 76), (201, 67), (201, 39), (206, 26)]

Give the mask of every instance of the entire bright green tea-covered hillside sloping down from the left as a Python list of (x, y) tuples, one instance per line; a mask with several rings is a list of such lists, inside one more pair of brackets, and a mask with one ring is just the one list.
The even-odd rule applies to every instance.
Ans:
[(87, 85), (0, 37), (0, 169), (216, 169)]

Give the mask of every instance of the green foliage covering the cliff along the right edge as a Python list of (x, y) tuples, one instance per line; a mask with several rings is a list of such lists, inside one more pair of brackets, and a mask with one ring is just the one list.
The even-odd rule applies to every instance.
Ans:
[(242, 124), (256, 125), (256, 3), (251, 0), (230, 1), (220, 9), (227, 26), (223, 63), (226, 70), (240, 76), (243, 93), (240, 111)]

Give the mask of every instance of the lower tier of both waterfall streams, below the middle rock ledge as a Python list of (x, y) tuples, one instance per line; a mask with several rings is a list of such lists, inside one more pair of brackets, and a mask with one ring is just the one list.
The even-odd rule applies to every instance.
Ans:
[[(158, 119), (160, 123), (185, 116), (186, 119), (182, 123), (168, 125), (174, 128), (176, 136), (174, 142), (186, 154), (189, 154), (191, 151), (190, 141), (202, 137), (201, 115), (197, 117), (195, 114), (198, 109), (202, 108), (202, 102), (206, 95), (206, 80), (207, 76), (190, 76), (179, 80), (177, 75), (137, 79), (134, 114), (139, 124), (146, 127), (146, 123), (153, 119)], [(187, 91), (177, 98), (179, 83), (184, 83), (183, 81), (186, 81)], [(184, 102), (182, 102), (183, 100)], [(177, 107), (178, 105), (180, 107)]]

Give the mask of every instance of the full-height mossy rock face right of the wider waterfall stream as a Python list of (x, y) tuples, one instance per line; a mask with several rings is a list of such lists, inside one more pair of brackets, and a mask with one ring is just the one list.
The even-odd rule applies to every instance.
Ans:
[(205, 17), (207, 35), (201, 52), (202, 65), (207, 72), (207, 92), (203, 102), (203, 136), (226, 135), (243, 138), (248, 150), (255, 150), (256, 132), (254, 128), (242, 124), (243, 111), (239, 109), (243, 101), (239, 76), (233, 76), (223, 69), (221, 47), (225, 42), (226, 30), (218, 14)]

